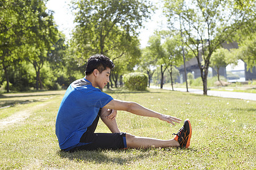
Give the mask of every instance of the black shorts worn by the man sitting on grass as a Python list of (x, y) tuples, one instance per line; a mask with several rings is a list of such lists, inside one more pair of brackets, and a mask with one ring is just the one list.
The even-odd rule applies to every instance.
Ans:
[[(121, 149), (127, 148), (126, 145), (126, 133), (94, 133), (98, 125), (98, 120), (100, 118), (101, 109), (98, 112), (97, 117), (90, 125), (85, 133), (80, 138), (79, 146), (68, 150), (69, 152), (77, 150), (97, 150), (101, 149)], [(66, 150), (67, 151), (67, 150)]]

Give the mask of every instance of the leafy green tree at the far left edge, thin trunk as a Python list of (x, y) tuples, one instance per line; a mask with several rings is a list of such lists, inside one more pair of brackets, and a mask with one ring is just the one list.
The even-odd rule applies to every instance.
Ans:
[(5, 72), (7, 92), (11, 65), (19, 61), (23, 30), (31, 22), (25, 1), (0, 1), (0, 65)]

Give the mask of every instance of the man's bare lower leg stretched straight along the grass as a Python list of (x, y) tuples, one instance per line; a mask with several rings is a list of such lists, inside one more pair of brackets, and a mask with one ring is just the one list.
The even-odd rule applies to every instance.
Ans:
[(155, 138), (136, 137), (126, 133), (126, 143), (128, 148), (149, 148), (149, 147), (179, 147), (180, 144), (175, 139), (162, 140)]

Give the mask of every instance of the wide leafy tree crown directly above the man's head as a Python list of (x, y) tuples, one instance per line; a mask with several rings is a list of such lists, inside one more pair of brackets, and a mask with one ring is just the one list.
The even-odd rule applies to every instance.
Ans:
[[(147, 1), (138, 0), (73, 2), (77, 23), (73, 32), (73, 45), (82, 52), (77, 57), (108, 54), (123, 46), (121, 41), (126, 41), (126, 44), (133, 41), (143, 19), (149, 18), (151, 6)], [(122, 54), (123, 51), (118, 56)]]

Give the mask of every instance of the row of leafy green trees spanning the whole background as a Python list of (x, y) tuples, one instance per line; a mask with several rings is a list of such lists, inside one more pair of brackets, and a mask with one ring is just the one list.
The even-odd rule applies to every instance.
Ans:
[(68, 86), (82, 76), (88, 57), (96, 53), (115, 63), (112, 87), (122, 84), (122, 75), (134, 67), (147, 73), (148, 84), (159, 68), (163, 87), (166, 70), (172, 83), (174, 68), (196, 57), (205, 95), (210, 62), (212, 67), (220, 66), (222, 61), (214, 56), (220, 56), (217, 49), (223, 42), (240, 45), (230, 55), (225, 52), (224, 56), (232, 56), (225, 64), (236, 56), (255, 66), (255, 5), (250, 0), (164, 0), (170, 30), (155, 32), (144, 49), (139, 46), (138, 30), (154, 12), (150, 1), (73, 1), (76, 27), (69, 41), (57, 30), (53, 11), (45, 3), (0, 0), (0, 83), (6, 82), (7, 92), (9, 82), (13, 90)]

